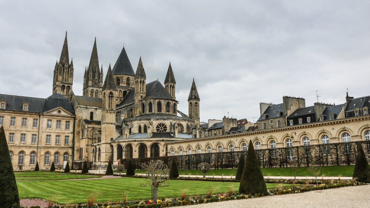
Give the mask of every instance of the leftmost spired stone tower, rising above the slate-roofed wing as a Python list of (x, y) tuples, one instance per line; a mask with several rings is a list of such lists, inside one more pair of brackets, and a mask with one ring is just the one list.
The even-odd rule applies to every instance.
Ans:
[(62, 53), (54, 67), (53, 94), (59, 93), (68, 98), (73, 85), (73, 61), (69, 62), (67, 31), (65, 32)]

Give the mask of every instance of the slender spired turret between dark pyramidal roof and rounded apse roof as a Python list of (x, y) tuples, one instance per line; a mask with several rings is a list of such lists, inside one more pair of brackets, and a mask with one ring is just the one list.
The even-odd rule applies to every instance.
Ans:
[(135, 99), (135, 107), (134, 107), (135, 113), (134, 113), (134, 115), (135, 116), (138, 116), (138, 115), (141, 115), (142, 113), (145, 113), (145, 112), (142, 112), (141, 100), (146, 95), (146, 91), (147, 91), (146, 86), (145, 86), (145, 81), (146, 80), (147, 80), (147, 75), (145, 75), (144, 67), (142, 66), (142, 61), (141, 61), (141, 57), (140, 57), (138, 68), (136, 69), (136, 74), (135, 74), (135, 78), (134, 78), (134, 83), (135, 83), (135, 95), (134, 95), (134, 97), (135, 97), (134, 98)]

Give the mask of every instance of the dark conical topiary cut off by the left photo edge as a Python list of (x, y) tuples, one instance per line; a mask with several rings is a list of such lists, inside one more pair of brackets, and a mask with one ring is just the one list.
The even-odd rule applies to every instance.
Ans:
[(18, 187), (3, 126), (0, 127), (0, 187), (1, 207), (19, 207)]

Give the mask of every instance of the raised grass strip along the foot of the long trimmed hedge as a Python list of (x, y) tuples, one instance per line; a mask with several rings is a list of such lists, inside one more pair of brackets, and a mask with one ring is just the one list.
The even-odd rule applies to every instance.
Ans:
[[(339, 176), (342, 175), (343, 177), (352, 177), (353, 175), (354, 165), (339, 165), (339, 166), (322, 166), (320, 176), (324, 174), (324, 176)], [(261, 168), (262, 174), (264, 176), (294, 176), (294, 172), (292, 168)], [(125, 173), (125, 172), (124, 172)], [(135, 170), (135, 173), (145, 173), (144, 170)], [(203, 173), (199, 170), (179, 170), (180, 175), (199, 175), (199, 177), (203, 176)], [(224, 175), (226, 178), (227, 176), (236, 174), (236, 169), (211, 169), (206, 175)], [(296, 172), (296, 176), (312, 176), (310, 171), (307, 167), (300, 167)]]

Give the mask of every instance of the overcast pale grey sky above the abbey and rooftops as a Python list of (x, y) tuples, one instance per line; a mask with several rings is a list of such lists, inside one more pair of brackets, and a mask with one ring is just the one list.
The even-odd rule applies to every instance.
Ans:
[[(201, 121), (259, 117), (285, 95), (341, 104), (370, 95), (370, 1), (0, 1), (0, 93), (46, 98), (65, 31), (73, 91), (94, 38), (104, 74), (123, 45), (147, 83), (171, 61), (179, 110), (195, 79)], [(256, 118), (255, 118), (256, 119)]]

